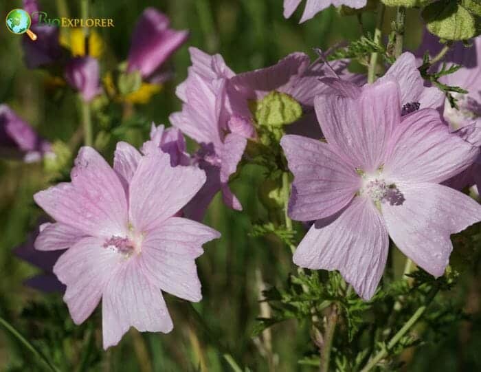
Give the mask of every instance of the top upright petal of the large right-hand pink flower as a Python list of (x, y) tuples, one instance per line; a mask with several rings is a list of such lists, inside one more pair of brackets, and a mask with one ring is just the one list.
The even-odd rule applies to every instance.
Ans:
[(317, 96), (314, 105), (328, 144), (339, 147), (351, 166), (366, 173), (382, 166), (392, 131), (401, 121), (396, 82), (365, 85), (357, 99)]

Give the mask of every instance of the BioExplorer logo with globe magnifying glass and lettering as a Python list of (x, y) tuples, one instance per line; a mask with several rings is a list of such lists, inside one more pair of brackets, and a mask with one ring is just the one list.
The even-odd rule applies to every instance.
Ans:
[(30, 30), (30, 26), (32, 25), (32, 17), (34, 17), (34, 19), (38, 17), (39, 25), (72, 28), (115, 27), (113, 24), (113, 19), (111, 18), (49, 18), (47, 12), (33, 12), (30, 16), (30, 14), (23, 9), (10, 10), (5, 19), (5, 24), (7, 25), (8, 30), (13, 34), (21, 35), (26, 33), (28, 36), (30, 36), (30, 39), (36, 40), (36, 34)]

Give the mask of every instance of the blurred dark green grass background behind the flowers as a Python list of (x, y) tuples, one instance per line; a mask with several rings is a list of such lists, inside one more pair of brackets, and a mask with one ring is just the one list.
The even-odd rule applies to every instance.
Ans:
[[(80, 1), (43, 0), (41, 9), (49, 17), (80, 17)], [(135, 117), (143, 127), (111, 138), (104, 155), (111, 161), (116, 140), (139, 145), (146, 140), (150, 122), (168, 123), (168, 115), (180, 107), (174, 95), (176, 85), (186, 78), (190, 65), (188, 45), (206, 52), (221, 53), (235, 72), (265, 67), (294, 51), (313, 56), (313, 47), (326, 49), (338, 42), (359, 37), (356, 17), (339, 17), (331, 8), (302, 25), (301, 11), (285, 20), (282, 0), (164, 0), (164, 1), (92, 1), (91, 15), (112, 18), (115, 28), (98, 30), (104, 41), (101, 57), (105, 73), (128, 54), (131, 32), (142, 10), (155, 6), (168, 14), (177, 29), (189, 29), (190, 40), (170, 60), (175, 79), (166, 83), (160, 94), (148, 105), (135, 107)], [(0, 1), (0, 14), (20, 8), (21, 1)], [(388, 12), (385, 29), (390, 27)], [(419, 42), (422, 28), (418, 13), (408, 14), (407, 48)], [(372, 30), (374, 16), (363, 17), (366, 30)], [(21, 36), (0, 28), (0, 102), (12, 107), (49, 140), (68, 142), (80, 125), (76, 95), (68, 89), (49, 87), (48, 73), (29, 70), (23, 63)], [(122, 124), (122, 113), (117, 113)], [(98, 123), (94, 120), (94, 128)], [(72, 149), (76, 151), (76, 149)], [(82, 327), (75, 327), (57, 294), (44, 295), (23, 285), (36, 269), (16, 259), (12, 249), (25, 241), (40, 211), (32, 195), (47, 186), (39, 164), (0, 161), (0, 316), (14, 324), (27, 338), (48, 355), (62, 371), (228, 371), (223, 358), (226, 349), (239, 364), (252, 371), (267, 371), (250, 337), (260, 307), (258, 303), (260, 272), (266, 285), (282, 285), (294, 270), (291, 254), (277, 241), (248, 236), (251, 221), (265, 215), (256, 197), (256, 186), (262, 179), (254, 166), (243, 169), (233, 183), (245, 212), (234, 212), (223, 206), (219, 195), (208, 211), (206, 223), (222, 232), (222, 238), (206, 245), (197, 262), (203, 283), (203, 300), (194, 304), (205, 325), (193, 316), (190, 305), (166, 295), (174, 330), (167, 334), (131, 331), (118, 347), (100, 352), (100, 309)], [(402, 257), (394, 254), (402, 270)], [(401, 268), (400, 268), (401, 267)], [(476, 272), (463, 276), (454, 303), (467, 303), (469, 311), (479, 311), (479, 289)], [(412, 360), (405, 371), (479, 371), (481, 360), (480, 327), (476, 323), (456, 323), (440, 338), (427, 340), (403, 358)], [(209, 331), (205, 331), (205, 328)], [(286, 322), (272, 329), (273, 350), (278, 355), (278, 371), (311, 371), (298, 364), (302, 355), (314, 349), (309, 328)], [(71, 338), (71, 342), (66, 339)], [(8, 333), (0, 331), (0, 370), (41, 371), (43, 366), (32, 358)]]

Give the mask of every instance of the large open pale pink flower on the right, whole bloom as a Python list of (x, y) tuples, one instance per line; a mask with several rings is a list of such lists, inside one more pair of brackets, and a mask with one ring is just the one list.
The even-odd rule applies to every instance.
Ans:
[(281, 140), (295, 177), (289, 216), (315, 221), (294, 263), (339, 270), (368, 300), (390, 236), (429, 274), (443, 275), (450, 234), (481, 221), (481, 206), (439, 183), (472, 164), (476, 146), (451, 133), (434, 109), (401, 118), (395, 80), (365, 85), (357, 97), (319, 96), (315, 110), (327, 143), (298, 135)]

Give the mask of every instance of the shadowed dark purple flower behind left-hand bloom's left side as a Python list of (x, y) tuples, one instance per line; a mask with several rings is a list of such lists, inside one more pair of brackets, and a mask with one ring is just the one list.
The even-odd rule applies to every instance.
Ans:
[(27, 241), (14, 249), (14, 254), (23, 261), (31, 263), (43, 270), (42, 274), (28, 278), (25, 281), (25, 285), (41, 292), (65, 292), (65, 285), (58, 281), (52, 271), (58, 257), (60, 257), (64, 251), (38, 252), (38, 250), (35, 250), (34, 248), (34, 241), (36, 237), (38, 237), (39, 232), (50, 225), (51, 223), (42, 223), (37, 226), (36, 230), (28, 235)]

